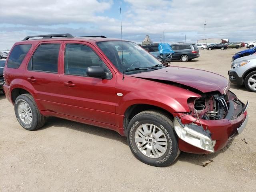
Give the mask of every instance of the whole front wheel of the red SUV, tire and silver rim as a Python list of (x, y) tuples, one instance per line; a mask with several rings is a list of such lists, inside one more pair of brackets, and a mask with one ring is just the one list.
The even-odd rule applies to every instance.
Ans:
[(159, 111), (148, 110), (134, 116), (126, 134), (132, 154), (148, 165), (168, 166), (180, 154), (172, 121)]

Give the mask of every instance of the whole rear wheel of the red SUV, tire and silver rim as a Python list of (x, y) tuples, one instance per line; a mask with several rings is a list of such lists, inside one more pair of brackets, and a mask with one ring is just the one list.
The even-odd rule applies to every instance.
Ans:
[(40, 114), (30, 94), (22, 94), (16, 98), (14, 111), (18, 122), (26, 130), (36, 130), (45, 123), (45, 117)]

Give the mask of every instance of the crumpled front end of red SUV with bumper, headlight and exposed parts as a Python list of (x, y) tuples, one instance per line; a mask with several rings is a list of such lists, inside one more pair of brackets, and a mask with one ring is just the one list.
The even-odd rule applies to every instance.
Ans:
[(202, 94), (188, 99), (190, 113), (174, 114), (174, 130), (181, 151), (208, 154), (221, 150), (240, 134), (248, 121), (247, 104), (228, 91)]

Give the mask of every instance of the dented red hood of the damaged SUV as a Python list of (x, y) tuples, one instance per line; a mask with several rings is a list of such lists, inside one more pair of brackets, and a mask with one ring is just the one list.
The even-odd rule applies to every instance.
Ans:
[(192, 68), (170, 66), (150, 72), (132, 74), (130, 76), (175, 82), (195, 88), (203, 93), (219, 91), (221, 94), (226, 94), (229, 89), (229, 83), (225, 77)]

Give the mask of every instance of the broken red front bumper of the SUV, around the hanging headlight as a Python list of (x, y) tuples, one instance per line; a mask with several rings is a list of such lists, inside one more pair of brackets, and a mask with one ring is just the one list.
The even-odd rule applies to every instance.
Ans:
[[(247, 122), (248, 122), (248, 115), (247, 115), (247, 107), (248, 102), (246, 105), (242, 104), (237, 106), (236, 104), (236, 96), (229, 93), (229, 112), (224, 119), (221, 120), (203, 120), (200, 119), (202, 127), (196, 118), (191, 115), (184, 115), (182, 113), (175, 113), (174, 116), (180, 116), (180, 122), (183, 125), (191, 125), (191, 122), (197, 125), (198, 128), (201, 130), (202, 134), (206, 134), (210, 136), (210, 140), (212, 143), (208, 142), (209, 146), (213, 145), (213, 150), (202, 149), (202, 147), (198, 147), (195, 144), (190, 144), (179, 137), (179, 148), (181, 151), (189, 152), (189, 153), (196, 153), (196, 154), (209, 154), (210, 152), (216, 152), (224, 148), (228, 140), (234, 138), (238, 134), (244, 130)], [(231, 98), (230, 98), (231, 97)], [(234, 102), (233, 102), (234, 101)], [(183, 116), (182, 116), (183, 115)], [(182, 124), (180, 124), (182, 126)], [(194, 126), (194, 125), (193, 125)]]

